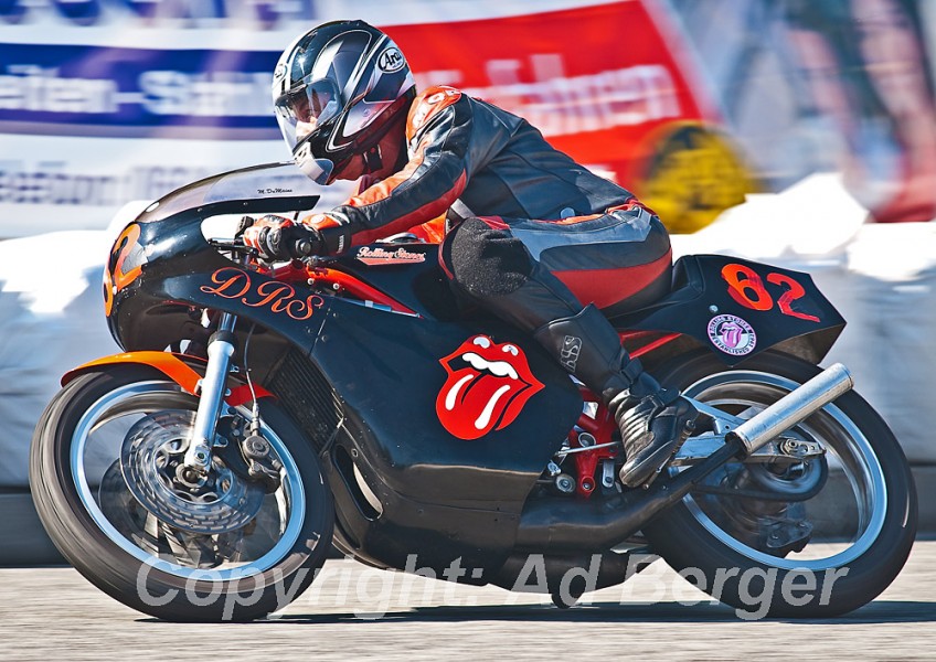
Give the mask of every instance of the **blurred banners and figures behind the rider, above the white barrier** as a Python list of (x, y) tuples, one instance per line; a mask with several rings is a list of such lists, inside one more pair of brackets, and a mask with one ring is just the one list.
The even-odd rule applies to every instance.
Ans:
[(0, 0), (0, 236), (285, 159), (273, 66), (355, 17), (422, 87), (526, 117), (676, 232), (830, 170), (875, 221), (936, 216), (924, 0)]

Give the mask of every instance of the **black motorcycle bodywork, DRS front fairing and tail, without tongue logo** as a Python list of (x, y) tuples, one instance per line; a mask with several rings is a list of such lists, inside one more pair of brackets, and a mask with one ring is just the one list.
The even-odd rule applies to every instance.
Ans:
[[(287, 265), (264, 273), (212, 247), (201, 229), (215, 215), (313, 204), (278, 197), (202, 204), (169, 216), (158, 206), (143, 212), (115, 243), (105, 277), (108, 325), (128, 353), (76, 369), (64, 381), (95, 366), (137, 362), (195, 393), (198, 383), (182, 366), (198, 373), (205, 366), (166, 350), (181, 349), (182, 340), (206, 344), (217, 322), (205, 325), (205, 311), (235, 316), (232, 346), (242, 350), (251, 338), (251, 362), (243, 367), (260, 396), (278, 398), (319, 453), (334, 495), (340, 548), (379, 567), (407, 567), (414, 551), (421, 567), (437, 572), (455, 558), (467, 567), (502, 567), (522, 542), (528, 495), (581, 416), (578, 388), (518, 330), (464, 317), (436, 266), (436, 246), (405, 244), (424, 256), (410, 265), (371, 267), (352, 253), (311, 269)], [(625, 346), (652, 365), (712, 349), (704, 329), (715, 312), (751, 318), (736, 297), (713, 287), (713, 274), (726, 264), (761, 267), (720, 256), (682, 258), (670, 296), (613, 320), (626, 330)], [(799, 303), (821, 322), (756, 311), (756, 352), (781, 349), (818, 362), (844, 321), (808, 276), (770, 273), (797, 278), (807, 292)], [(440, 360), (480, 333), (521, 348), (545, 388), (509, 428), (453, 444), (430, 405), (413, 401), (426, 393), (434, 398), (445, 376)], [(719, 355), (728, 365), (744, 359)], [(243, 361), (240, 350), (233, 361)], [(375, 367), (363, 375), (362, 365)], [(401, 388), (407, 383), (421, 387), (407, 396)]]

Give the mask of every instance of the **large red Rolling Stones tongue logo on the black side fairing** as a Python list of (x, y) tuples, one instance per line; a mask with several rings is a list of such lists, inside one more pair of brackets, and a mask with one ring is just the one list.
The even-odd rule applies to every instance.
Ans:
[(445, 429), (459, 439), (506, 428), (543, 388), (520, 348), (497, 344), (487, 335), (469, 338), (439, 363), (448, 380), (436, 398), (436, 413)]

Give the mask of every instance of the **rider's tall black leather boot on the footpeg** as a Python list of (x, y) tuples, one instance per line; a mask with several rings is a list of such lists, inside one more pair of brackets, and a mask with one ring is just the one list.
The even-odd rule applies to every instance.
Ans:
[(692, 403), (644, 372), (593, 305), (547, 322), (534, 335), (602, 396), (617, 420), (626, 457), (620, 481), (629, 488), (652, 482), (694, 429), (699, 413)]

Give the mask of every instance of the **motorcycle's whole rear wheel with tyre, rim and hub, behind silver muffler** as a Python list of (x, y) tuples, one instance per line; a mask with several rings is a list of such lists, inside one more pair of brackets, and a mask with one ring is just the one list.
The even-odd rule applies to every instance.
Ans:
[[(732, 369), (699, 352), (658, 372), (668, 385), (736, 419), (818, 373), (777, 352)], [(787, 436), (818, 444), (821, 455), (730, 462), (644, 532), (683, 577), (751, 617), (851, 611), (883, 591), (907, 559), (917, 512), (910, 467), (887, 425), (853, 391)]]

